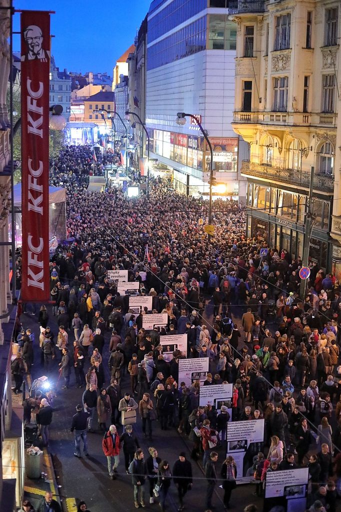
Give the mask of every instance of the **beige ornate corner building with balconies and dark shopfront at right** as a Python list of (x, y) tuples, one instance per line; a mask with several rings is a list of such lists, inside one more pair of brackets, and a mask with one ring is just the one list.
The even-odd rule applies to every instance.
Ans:
[(233, 128), (249, 143), (247, 234), (303, 256), (314, 166), (310, 258), (341, 267), (341, 217), (331, 227), (333, 196), (341, 197), (340, 2), (239, 0), (230, 12), (237, 24)]

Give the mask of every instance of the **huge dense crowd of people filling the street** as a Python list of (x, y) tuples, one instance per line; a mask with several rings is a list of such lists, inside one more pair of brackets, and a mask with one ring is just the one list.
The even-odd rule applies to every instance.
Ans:
[[(179, 196), (161, 179), (150, 180), (149, 200), (128, 199), (121, 188), (88, 194), (92, 171), (89, 147), (65, 147), (51, 166), (51, 183), (63, 183), (67, 191), (68, 240), (51, 258), (54, 306), (41, 306), (39, 334), (18, 332), (14, 392), (30, 372), (33, 344), (39, 343), (46, 373), (55, 374), (58, 365), (64, 389), (71, 381), (83, 388), (71, 425), (74, 455), (81, 457), (81, 444), (88, 455), (87, 432), (97, 430), (97, 413), (109, 478), (116, 479), (122, 449), (137, 508), (146, 506), (148, 482), (149, 503), (160, 498), (164, 510), (174, 482), (178, 510), (183, 510), (184, 496), (195, 486), (190, 457), (202, 457), (206, 507), (212, 507), (221, 482), (223, 505), (230, 508), (238, 475), (233, 457), (225, 456), (226, 423), (264, 418), (264, 442), (246, 467), (256, 495), (264, 496), (268, 472), (307, 466), (308, 509), (334, 512), (341, 497), (341, 295), (335, 276), (312, 262), (302, 299), (300, 257), (271, 247), (261, 256), (266, 244), (246, 237), (245, 211), (236, 201), (214, 201), (215, 234), (209, 241), (203, 229), (206, 200)], [(161, 332), (143, 328), (150, 311), (134, 314), (128, 295), (118, 293), (117, 283), (108, 278), (109, 270), (127, 270), (128, 281), (139, 283), (138, 293), (152, 297), (151, 312), (168, 314)], [(49, 327), (52, 316), (58, 332)], [(199, 407), (199, 381), (179, 382), (181, 352), (173, 352), (171, 361), (164, 357), (160, 334), (185, 333), (187, 357), (209, 358), (203, 384), (233, 384), (231, 415), (224, 406), (220, 412)], [(48, 444), (53, 415), (44, 409), (52, 409), (49, 396), (40, 391), (26, 402), (27, 419), (39, 409), (42, 441)], [(162, 430), (175, 428), (192, 443), (172, 471), (153, 446), (144, 459), (131, 426), (137, 413), (149, 441), (156, 419)], [(276, 504), (265, 501), (267, 509)], [(248, 512), (255, 512), (256, 505), (250, 507)]]

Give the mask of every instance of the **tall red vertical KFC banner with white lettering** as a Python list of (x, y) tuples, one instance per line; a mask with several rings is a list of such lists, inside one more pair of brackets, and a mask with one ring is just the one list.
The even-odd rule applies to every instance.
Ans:
[(25, 302), (50, 298), (49, 272), (50, 14), (21, 13), (21, 220)]

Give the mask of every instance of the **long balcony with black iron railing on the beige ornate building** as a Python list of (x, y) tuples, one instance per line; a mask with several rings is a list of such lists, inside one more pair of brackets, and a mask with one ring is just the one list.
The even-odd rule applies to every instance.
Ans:
[[(243, 160), (241, 165), (241, 174), (247, 176), (256, 176), (271, 181), (279, 181), (282, 183), (290, 183), (291, 185), (301, 185), (309, 188), (310, 173), (306, 170), (285, 169), (270, 165), (261, 165), (258, 163)], [(333, 192), (334, 176), (326, 174), (314, 174), (314, 190), (324, 192)]]

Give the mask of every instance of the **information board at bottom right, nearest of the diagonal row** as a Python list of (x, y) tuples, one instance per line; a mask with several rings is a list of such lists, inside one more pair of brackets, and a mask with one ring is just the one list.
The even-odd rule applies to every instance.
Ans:
[(267, 473), (265, 498), (285, 498), (287, 512), (301, 512), (306, 509), (308, 478), (308, 467)]

